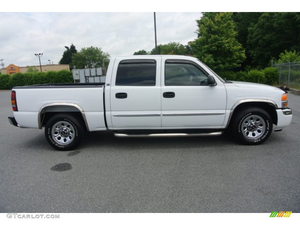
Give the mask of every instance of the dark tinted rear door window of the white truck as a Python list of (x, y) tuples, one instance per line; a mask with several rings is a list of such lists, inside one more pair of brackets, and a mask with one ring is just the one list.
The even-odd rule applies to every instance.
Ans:
[(155, 60), (123, 60), (119, 63), (116, 85), (155, 86)]

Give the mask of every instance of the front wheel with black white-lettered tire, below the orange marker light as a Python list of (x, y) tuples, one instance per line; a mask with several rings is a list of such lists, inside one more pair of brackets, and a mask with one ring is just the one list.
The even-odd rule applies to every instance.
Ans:
[(259, 145), (270, 137), (273, 121), (270, 114), (259, 107), (244, 108), (232, 118), (231, 130), (235, 140), (245, 145)]

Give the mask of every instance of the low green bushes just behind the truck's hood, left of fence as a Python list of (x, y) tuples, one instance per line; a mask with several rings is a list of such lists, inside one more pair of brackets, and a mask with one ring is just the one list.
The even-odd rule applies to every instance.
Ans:
[(218, 74), (223, 79), (232, 81), (245, 81), (260, 84), (276, 85), (278, 84), (278, 69), (274, 67), (267, 67), (263, 70), (246, 71), (225, 71)]

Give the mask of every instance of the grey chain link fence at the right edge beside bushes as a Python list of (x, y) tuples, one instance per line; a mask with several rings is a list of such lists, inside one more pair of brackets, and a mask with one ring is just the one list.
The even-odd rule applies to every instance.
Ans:
[(300, 89), (300, 62), (273, 64), (278, 68), (278, 84), (290, 88)]

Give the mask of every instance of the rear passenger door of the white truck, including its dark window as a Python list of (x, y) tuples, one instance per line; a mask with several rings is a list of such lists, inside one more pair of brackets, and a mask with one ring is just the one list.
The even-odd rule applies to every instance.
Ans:
[(161, 56), (117, 57), (110, 104), (114, 129), (161, 128)]

